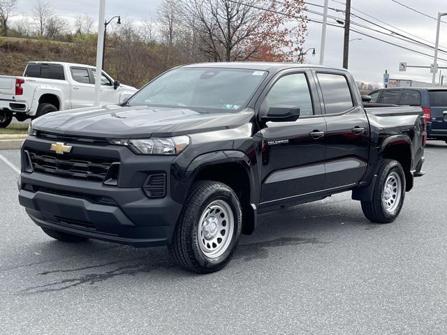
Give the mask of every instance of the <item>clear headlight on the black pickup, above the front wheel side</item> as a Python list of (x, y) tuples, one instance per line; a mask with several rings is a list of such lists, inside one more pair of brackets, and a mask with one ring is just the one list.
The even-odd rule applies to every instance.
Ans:
[(188, 136), (149, 138), (138, 140), (109, 140), (110, 144), (125, 145), (135, 154), (178, 155), (189, 145)]

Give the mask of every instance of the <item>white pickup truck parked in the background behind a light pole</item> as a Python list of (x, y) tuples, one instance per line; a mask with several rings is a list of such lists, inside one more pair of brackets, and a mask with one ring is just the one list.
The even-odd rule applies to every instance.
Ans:
[[(0, 128), (13, 117), (34, 119), (48, 112), (94, 104), (95, 67), (62, 62), (30, 61), (22, 77), (0, 76)], [(101, 103), (122, 103), (137, 89), (120, 84), (103, 72)]]

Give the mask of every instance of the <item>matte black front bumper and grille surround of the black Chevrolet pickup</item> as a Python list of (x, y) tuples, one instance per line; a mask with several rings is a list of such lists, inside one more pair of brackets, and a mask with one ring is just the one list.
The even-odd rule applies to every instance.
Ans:
[[(29, 137), (22, 147), (22, 164), (24, 151), (49, 146), (50, 141)], [(170, 187), (163, 198), (148, 198), (142, 185), (155, 170), (166, 172), (168, 186), (172, 157), (138, 156), (126, 147), (88, 144), (73, 144), (72, 151), (85, 156), (118, 156), (121, 163), (118, 185), (22, 172), (19, 201), (34, 223), (132, 246), (171, 243), (182, 204), (171, 198)]]

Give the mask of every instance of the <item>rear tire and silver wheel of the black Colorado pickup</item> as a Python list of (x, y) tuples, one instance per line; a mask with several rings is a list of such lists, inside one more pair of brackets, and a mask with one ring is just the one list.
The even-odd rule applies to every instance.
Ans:
[(405, 173), (402, 165), (384, 159), (377, 174), (372, 201), (362, 201), (362, 211), (369, 221), (390, 223), (395, 221), (405, 198)]

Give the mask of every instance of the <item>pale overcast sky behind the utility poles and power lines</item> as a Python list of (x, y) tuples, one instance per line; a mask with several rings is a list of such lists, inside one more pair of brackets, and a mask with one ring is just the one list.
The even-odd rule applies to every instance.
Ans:
[[(447, 12), (447, 0), (397, 1), (432, 17), (437, 17), (438, 12)], [(18, 2), (18, 7), (20, 8), (19, 11), (30, 15), (36, 0), (18, 0)], [(83, 15), (85, 13), (91, 15), (92, 17), (98, 16), (98, 0), (47, 0), (47, 2), (53, 6), (57, 15), (66, 18), (66, 20), (70, 22), (73, 22), (76, 16)], [(306, 2), (323, 5), (324, 1), (306, 0)], [(344, 9), (342, 2), (344, 2), (344, 0), (329, 0), (329, 7)], [(156, 8), (160, 3), (161, 0), (106, 0), (106, 17), (121, 15), (127, 20), (133, 20), (133, 22), (138, 23), (142, 17), (156, 17)], [(415, 13), (404, 6), (399, 5), (393, 0), (351, 0), (351, 6), (353, 8), (351, 13), (354, 15), (358, 15), (366, 20), (381, 24), (372, 18), (374, 17), (375, 19), (379, 19), (387, 24), (392, 24), (394, 27), (406, 31), (406, 33), (398, 31), (401, 34), (410, 33), (418, 36), (419, 38), (428, 40), (429, 42), (426, 42), (427, 44), (434, 44), (437, 26), (436, 20), (420, 15), (419, 13)], [(308, 5), (307, 8), (318, 13), (323, 12), (322, 8), (318, 8), (316, 6)], [(358, 10), (361, 10), (365, 14), (360, 13)], [(332, 10), (329, 10), (328, 13), (332, 16), (344, 19), (344, 13), (335, 12)], [(307, 13), (307, 15), (308, 17), (321, 21), (320, 15), (312, 13)], [(371, 17), (368, 17), (367, 15), (370, 15)], [(447, 22), (447, 16), (444, 20)], [(351, 16), (351, 22), (374, 27), (372, 24), (369, 24), (358, 17)], [(337, 22), (335, 22), (332, 18), (328, 19), (328, 23), (337, 24)], [(341, 24), (337, 25), (339, 27), (329, 26), (326, 33), (324, 59), (324, 65), (326, 66), (342, 67), (343, 29)], [(316, 56), (312, 57), (312, 55), (310, 55), (311, 52), (309, 52), (307, 63), (318, 64), (320, 56), (321, 27), (321, 24), (314, 22), (309, 22), (307, 24), (308, 35), (303, 48), (304, 50), (307, 50), (309, 47), (316, 48)], [(355, 24), (351, 24), (351, 28), (365, 31), (367, 34), (374, 35), (377, 38), (382, 38), (398, 45), (403, 45), (410, 49), (402, 50), (399, 47), (388, 45), (379, 40), (374, 40), (367, 36), (361, 36), (360, 34), (351, 31), (351, 39), (362, 38), (361, 40), (352, 40), (350, 43), (349, 70), (356, 80), (363, 82), (382, 82), (383, 73), (385, 70), (388, 70), (391, 78), (412, 79), (424, 82), (432, 81), (432, 75), (429, 68), (407, 68), (406, 72), (399, 72), (400, 62), (406, 62), (408, 65), (414, 66), (430, 66), (430, 64), (433, 63), (432, 57), (416, 54), (411, 50), (417, 50), (432, 55), (434, 54), (432, 49), (418, 47), (410, 43), (404, 43), (402, 40), (398, 40), (391, 36), (385, 36), (372, 31), (367, 31), (356, 26)], [(378, 27), (375, 27), (375, 29), (378, 29)], [(397, 31), (397, 29), (393, 30)], [(445, 46), (444, 50), (447, 51), (447, 24), (441, 23), (440, 36), (440, 45)], [(440, 52), (439, 57), (447, 59), (447, 53)], [(439, 66), (447, 67), (447, 61), (439, 61)], [(445, 71), (445, 74), (447, 75), (447, 68), (441, 71), (443, 73)]]

